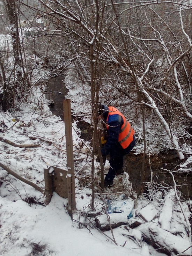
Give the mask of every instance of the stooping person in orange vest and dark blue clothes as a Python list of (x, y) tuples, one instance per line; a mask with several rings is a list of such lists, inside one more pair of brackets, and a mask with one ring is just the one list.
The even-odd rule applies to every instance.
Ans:
[[(127, 122), (126, 118), (115, 107), (100, 105), (99, 118), (106, 124), (108, 138), (106, 144), (101, 148), (103, 162), (106, 156), (110, 155), (110, 168), (105, 176), (104, 185), (113, 185), (113, 179), (116, 175), (124, 173), (123, 156), (128, 154), (135, 146), (135, 131)], [(96, 158), (100, 162), (99, 156)]]

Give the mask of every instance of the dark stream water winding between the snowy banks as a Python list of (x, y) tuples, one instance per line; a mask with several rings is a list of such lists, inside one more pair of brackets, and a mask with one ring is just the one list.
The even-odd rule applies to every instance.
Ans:
[[(50, 100), (50, 110), (54, 115), (60, 116), (62, 120), (64, 120), (62, 101), (68, 93), (68, 90), (65, 87), (64, 78), (64, 76), (56, 76), (49, 79), (47, 82), (47, 91), (45, 93), (46, 98)], [(81, 138), (89, 141), (92, 138), (92, 130), (89, 124), (82, 121), (80, 118), (74, 118), (72, 116), (72, 119), (78, 120), (77, 127), (82, 131)], [(140, 183), (142, 161), (143, 159), (141, 155), (134, 154), (128, 154), (124, 159), (124, 171), (129, 174), (130, 181), (135, 190)], [(151, 156), (150, 159), (149, 157), (146, 157), (144, 181), (150, 182), (153, 177), (155, 186), (158, 187), (161, 184), (162, 187), (169, 188), (169, 186), (173, 186), (172, 177), (168, 171), (164, 171), (162, 168), (173, 170), (174, 168), (177, 168), (180, 163), (182, 163), (182, 161), (177, 158), (175, 152)], [(151, 171), (153, 172), (153, 175), (151, 175)], [(192, 200), (192, 174), (180, 173), (174, 176), (183, 197)]]

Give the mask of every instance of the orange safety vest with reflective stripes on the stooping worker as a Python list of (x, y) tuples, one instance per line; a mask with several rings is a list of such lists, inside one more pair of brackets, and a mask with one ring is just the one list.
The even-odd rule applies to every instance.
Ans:
[[(123, 118), (123, 125), (121, 126), (118, 141), (123, 148), (127, 148), (128, 145), (130, 145), (130, 143), (133, 141), (133, 135), (135, 131), (131, 127), (131, 124), (127, 122), (126, 118), (124, 117), (123, 114), (121, 114), (119, 110), (117, 110), (114, 107), (108, 107), (108, 108), (109, 108), (109, 114), (107, 117), (107, 123), (108, 123), (109, 116), (111, 115), (119, 115)], [(106, 127), (107, 129), (109, 129), (108, 124), (106, 125)]]

